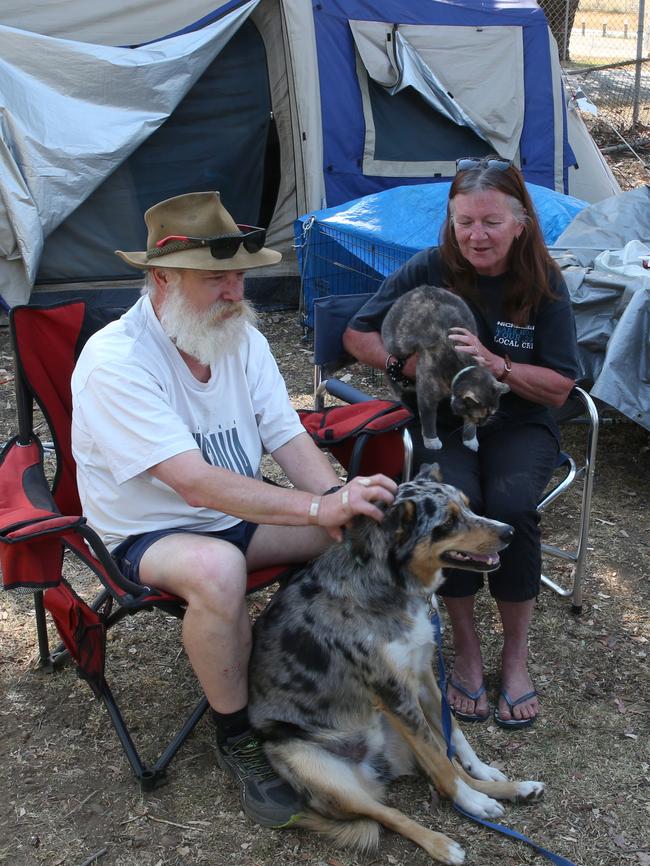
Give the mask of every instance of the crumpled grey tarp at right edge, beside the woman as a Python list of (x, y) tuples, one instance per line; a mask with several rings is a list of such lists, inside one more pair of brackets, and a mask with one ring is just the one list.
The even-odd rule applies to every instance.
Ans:
[(648, 276), (594, 268), (605, 250), (631, 240), (650, 244), (650, 187), (581, 211), (551, 252), (573, 301), (580, 360), (591, 394), (650, 430), (650, 271)]

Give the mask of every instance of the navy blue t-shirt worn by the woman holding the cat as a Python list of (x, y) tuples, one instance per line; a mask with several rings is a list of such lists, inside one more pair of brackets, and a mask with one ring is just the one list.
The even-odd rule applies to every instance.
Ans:
[[(384, 316), (393, 302), (417, 286), (444, 286), (444, 269), (440, 253), (430, 247), (416, 253), (397, 271), (386, 277), (377, 292), (350, 320), (355, 331), (381, 331)], [(503, 282), (501, 277), (478, 275), (478, 293), (482, 307), (468, 301), (476, 319), (478, 338), (495, 355), (509, 355), (520, 364), (549, 367), (569, 379), (578, 375), (578, 350), (571, 300), (566, 283), (559, 274), (551, 273), (551, 289), (555, 298), (544, 300), (526, 325), (515, 325), (502, 312)], [(441, 407), (442, 408), (442, 407)], [(533, 403), (512, 391), (501, 398), (499, 415), (528, 418), (550, 413), (539, 403)]]

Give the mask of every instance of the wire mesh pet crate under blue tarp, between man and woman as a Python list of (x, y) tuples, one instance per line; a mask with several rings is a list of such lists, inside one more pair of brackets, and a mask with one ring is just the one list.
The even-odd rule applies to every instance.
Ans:
[(417, 250), (378, 243), (308, 217), (296, 224), (300, 265), (300, 312), (303, 326), (313, 328), (313, 303), (327, 295), (374, 292), (384, 279)]

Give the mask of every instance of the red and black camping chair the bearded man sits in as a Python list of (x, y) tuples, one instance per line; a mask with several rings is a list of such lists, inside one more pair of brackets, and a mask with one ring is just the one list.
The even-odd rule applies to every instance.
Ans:
[[(88, 337), (119, 311), (98, 311), (84, 301), (52, 306), (20, 306), (10, 312), (16, 368), (18, 435), (0, 453), (0, 563), (5, 589), (23, 588), (34, 594), (39, 657), (43, 667), (72, 658), (105, 704), (122, 747), (143, 789), (165, 780), (166, 768), (207, 709), (203, 697), (158, 760), (143, 763), (105, 677), (106, 632), (125, 616), (162, 609), (176, 617), (183, 600), (127, 580), (99, 536), (81, 514), (76, 471), (70, 444), (72, 398), (70, 378)], [(34, 409), (47, 421), (55, 455), (48, 482), (43, 446), (34, 432)], [(399, 429), (410, 413), (398, 404), (364, 403), (340, 411), (302, 413), (306, 429), (322, 446), (332, 447), (352, 471), (378, 471), (382, 465), (401, 466)], [(369, 431), (366, 433), (366, 431)], [(384, 440), (382, 451), (376, 442)], [(361, 445), (356, 443), (361, 441)], [(374, 449), (364, 448), (364, 442)], [(397, 458), (390, 457), (397, 446)], [(368, 456), (376, 461), (374, 469)], [(352, 474), (352, 473), (351, 473)], [(64, 553), (77, 557), (97, 576), (99, 594), (87, 603), (73, 588), (64, 568)], [(265, 587), (286, 567), (267, 568), (249, 575), (248, 592)], [(51, 650), (49, 612), (62, 644)], [(143, 673), (143, 672), (140, 672)]]

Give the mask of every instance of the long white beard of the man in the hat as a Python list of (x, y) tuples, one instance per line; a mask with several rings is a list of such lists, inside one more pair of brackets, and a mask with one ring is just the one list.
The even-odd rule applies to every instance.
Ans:
[(197, 311), (188, 304), (181, 288), (172, 287), (159, 312), (160, 324), (176, 348), (206, 366), (237, 352), (246, 324), (255, 325), (257, 319), (246, 300), (215, 301), (206, 310)]

